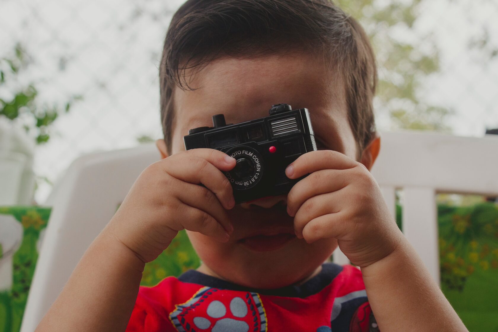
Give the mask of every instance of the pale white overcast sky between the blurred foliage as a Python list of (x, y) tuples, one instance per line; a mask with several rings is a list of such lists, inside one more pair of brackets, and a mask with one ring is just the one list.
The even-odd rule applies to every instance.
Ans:
[[(383, 3), (389, 1), (383, 0)], [(55, 134), (36, 149), (35, 171), (54, 180), (83, 153), (125, 148), (136, 137), (161, 136), (158, 111), (158, 59), (169, 13), (179, 0), (3, 0), (0, 2), (2, 56), (21, 41), (33, 63), (21, 82), (36, 82), (40, 99), (84, 100), (62, 115)], [(380, 3), (380, 2), (379, 2)], [(448, 124), (457, 135), (481, 136), (498, 127), (498, 57), (468, 50), (473, 36), (490, 28), (498, 49), (498, 1), (426, 0), (412, 31), (396, 38), (431, 33), (440, 49), (441, 70), (419, 91), (421, 99), (454, 110)], [(0, 98), (11, 91), (0, 89)], [(377, 126), (391, 129), (379, 111)], [(42, 184), (36, 198), (49, 194)]]

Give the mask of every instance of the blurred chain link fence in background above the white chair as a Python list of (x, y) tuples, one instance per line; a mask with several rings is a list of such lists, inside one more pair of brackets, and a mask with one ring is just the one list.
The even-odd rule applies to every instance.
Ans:
[[(496, 0), (338, 2), (372, 36), (382, 79), (379, 130), (481, 136), (498, 127)], [(15, 57), (16, 45), (23, 54), (0, 99), (33, 85), (37, 104), (62, 110), (35, 150), (38, 202), (76, 157), (161, 137), (159, 59), (181, 3), (0, 0), (0, 57)], [(36, 125), (22, 114), (13, 122)]]

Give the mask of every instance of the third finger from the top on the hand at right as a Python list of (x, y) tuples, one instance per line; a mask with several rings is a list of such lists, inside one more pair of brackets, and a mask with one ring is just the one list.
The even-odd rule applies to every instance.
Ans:
[(313, 219), (341, 211), (341, 191), (313, 196), (307, 199), (294, 216), (294, 232), (303, 238), (303, 229)]

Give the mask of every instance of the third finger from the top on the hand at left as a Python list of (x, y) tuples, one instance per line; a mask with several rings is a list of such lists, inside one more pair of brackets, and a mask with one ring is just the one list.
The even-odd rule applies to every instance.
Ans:
[[(181, 182), (180, 180), (177, 181)], [(188, 184), (187, 187), (185, 185), (183, 187), (178, 186), (177, 188), (180, 189), (176, 193), (176, 197), (183, 204), (208, 213), (222, 225), (225, 231), (229, 234), (232, 233), (234, 227), (230, 222), (227, 211), (211, 190), (193, 184)]]

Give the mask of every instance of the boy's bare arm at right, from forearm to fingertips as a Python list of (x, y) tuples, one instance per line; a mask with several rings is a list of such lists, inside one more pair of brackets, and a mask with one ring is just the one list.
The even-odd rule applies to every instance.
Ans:
[(367, 296), (381, 332), (467, 331), (415, 250), (390, 216), (364, 165), (336, 151), (300, 156), (286, 174), (307, 173), (287, 196), (296, 235), (307, 242), (337, 238), (362, 269)]

